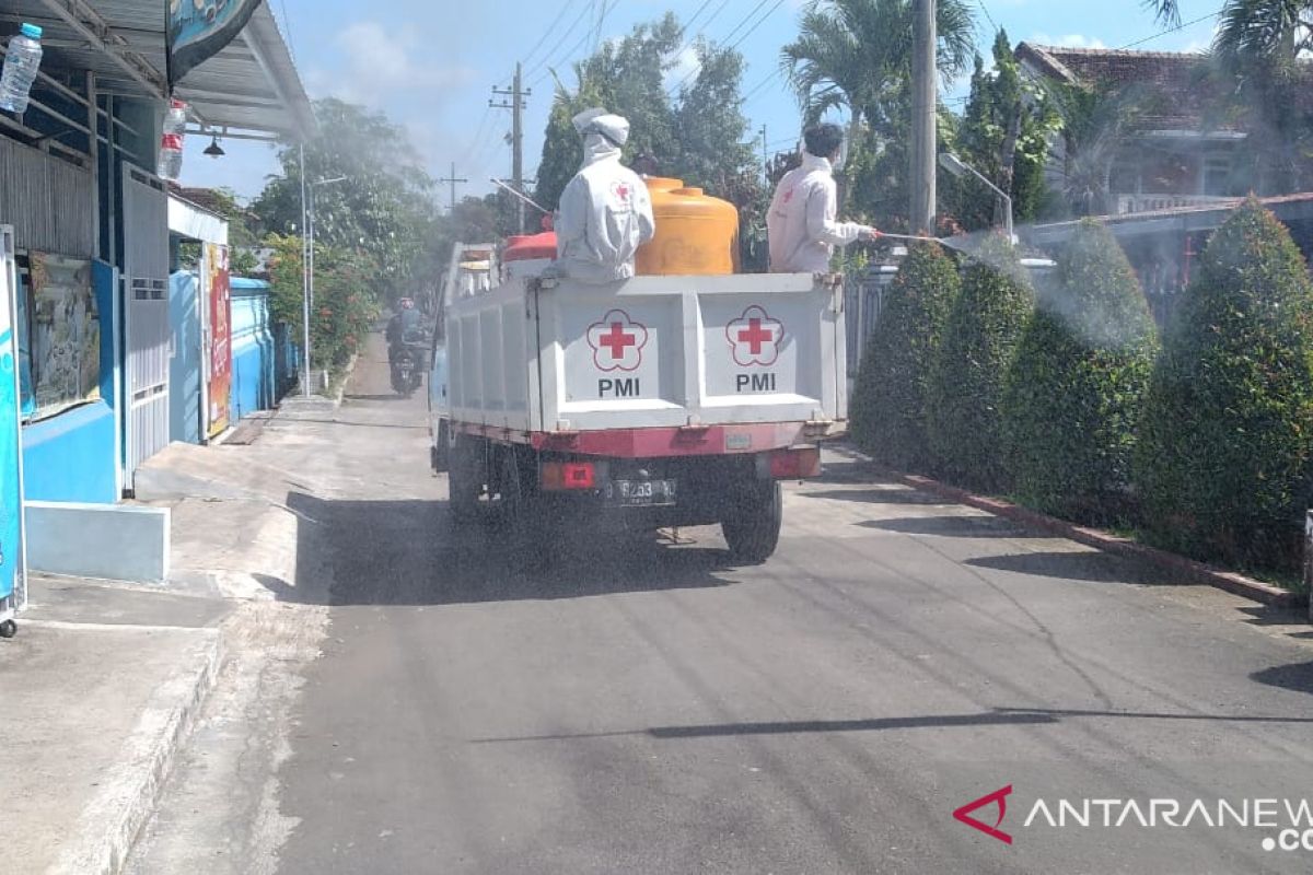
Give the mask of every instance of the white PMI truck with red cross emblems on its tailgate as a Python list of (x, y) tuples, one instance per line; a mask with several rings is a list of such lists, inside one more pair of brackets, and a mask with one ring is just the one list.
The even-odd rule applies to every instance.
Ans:
[[(780, 537), (781, 480), (847, 416), (829, 274), (545, 279), (458, 244), (429, 379), (432, 463), (458, 521), (720, 523), (741, 561)], [(590, 525), (592, 525), (590, 523)], [(558, 534), (558, 533), (557, 533)]]

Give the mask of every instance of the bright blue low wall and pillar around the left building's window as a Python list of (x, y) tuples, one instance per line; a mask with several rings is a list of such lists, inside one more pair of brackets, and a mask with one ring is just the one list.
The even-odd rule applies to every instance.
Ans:
[(118, 500), (117, 332), (113, 272), (92, 262), (100, 310), (101, 400), (83, 404), (22, 429), (24, 488), (29, 501)]

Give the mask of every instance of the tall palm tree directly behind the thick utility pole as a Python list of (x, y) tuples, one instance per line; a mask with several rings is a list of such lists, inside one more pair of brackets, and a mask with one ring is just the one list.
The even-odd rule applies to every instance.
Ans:
[[(956, 77), (974, 56), (970, 5), (940, 0), (936, 22), (939, 71)], [(853, 206), (881, 227), (906, 226), (913, 24), (910, 0), (818, 0), (804, 12), (797, 39), (780, 50), (804, 123), (847, 110), (844, 176)]]

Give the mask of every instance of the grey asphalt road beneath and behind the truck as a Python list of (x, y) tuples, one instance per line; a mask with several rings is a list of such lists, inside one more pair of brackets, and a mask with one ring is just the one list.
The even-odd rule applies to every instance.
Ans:
[[(1313, 868), (1263, 849), (1313, 799), (1308, 626), (838, 454), (764, 565), (595, 530), (528, 572), (449, 525), (424, 400), (374, 352), (316, 426), (336, 488), (289, 499), (332, 585), (270, 766), (282, 875)], [(1010, 844), (955, 820), (1006, 787), (973, 816)], [(1119, 802), (1082, 826), (1087, 799)]]

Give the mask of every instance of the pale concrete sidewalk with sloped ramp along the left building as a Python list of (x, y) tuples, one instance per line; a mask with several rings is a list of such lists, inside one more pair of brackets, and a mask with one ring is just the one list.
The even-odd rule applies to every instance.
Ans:
[(32, 579), (18, 635), (0, 640), (0, 871), (119, 872), (218, 678), (311, 649), (302, 606), (323, 603), (328, 576), (303, 555), (314, 521), (289, 506), (316, 492), (285, 470), (298, 454), (282, 443), (312, 442), (297, 408), (265, 424), (281, 442), (175, 445), (148, 463), (138, 496), (173, 509), (165, 586)]

